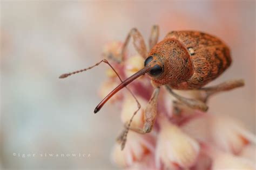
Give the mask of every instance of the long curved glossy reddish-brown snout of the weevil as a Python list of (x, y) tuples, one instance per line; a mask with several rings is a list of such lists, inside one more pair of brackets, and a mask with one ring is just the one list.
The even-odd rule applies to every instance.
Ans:
[(131, 83), (133, 80), (137, 79), (138, 77), (142, 76), (143, 74), (149, 72), (150, 67), (144, 67), (143, 69), (139, 70), (137, 73), (133, 74), (126, 80), (124, 80), (122, 83), (120, 83), (116, 88), (114, 88), (110, 94), (108, 94), (95, 108), (94, 113), (96, 114), (102, 107), (103, 105), (114, 95), (116, 94), (119, 90), (123, 89), (125, 86), (127, 86), (129, 83)]

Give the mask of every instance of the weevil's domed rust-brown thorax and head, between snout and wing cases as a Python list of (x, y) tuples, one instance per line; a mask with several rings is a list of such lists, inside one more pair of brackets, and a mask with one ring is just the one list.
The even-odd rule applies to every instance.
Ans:
[(156, 44), (145, 66), (150, 66), (149, 75), (156, 86), (178, 84), (193, 75), (191, 56), (177, 39), (164, 39)]

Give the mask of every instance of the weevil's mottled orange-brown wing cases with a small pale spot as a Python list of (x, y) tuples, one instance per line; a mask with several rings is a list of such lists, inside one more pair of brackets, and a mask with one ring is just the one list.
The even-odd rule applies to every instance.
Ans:
[(172, 31), (165, 39), (177, 39), (191, 56), (193, 75), (174, 89), (198, 89), (221, 75), (232, 62), (230, 49), (220, 39), (198, 31)]

